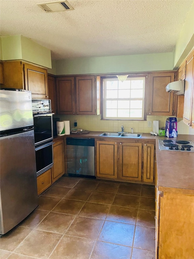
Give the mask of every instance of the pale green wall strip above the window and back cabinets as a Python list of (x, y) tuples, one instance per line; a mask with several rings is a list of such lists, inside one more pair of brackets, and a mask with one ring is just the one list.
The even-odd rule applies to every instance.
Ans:
[(173, 69), (173, 53), (56, 60), (56, 74), (103, 74)]

